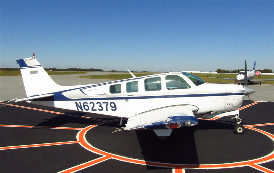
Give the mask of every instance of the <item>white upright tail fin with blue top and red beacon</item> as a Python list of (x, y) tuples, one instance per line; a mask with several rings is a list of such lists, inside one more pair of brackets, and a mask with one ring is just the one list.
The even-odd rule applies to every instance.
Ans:
[(62, 86), (56, 84), (34, 56), (16, 60), (20, 66), (26, 96), (35, 96), (61, 90)]

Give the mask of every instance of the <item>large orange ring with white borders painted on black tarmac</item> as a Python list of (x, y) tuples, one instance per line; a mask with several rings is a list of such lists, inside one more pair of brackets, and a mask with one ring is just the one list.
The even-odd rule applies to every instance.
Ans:
[[(113, 122), (113, 121), (118, 121), (118, 119), (115, 120), (111, 120), (108, 122)], [(142, 164), (142, 165), (149, 165), (149, 166), (157, 166), (157, 167), (167, 167), (167, 168), (175, 168), (176, 172), (180, 172), (180, 170), (177, 169), (183, 169), (183, 168), (199, 168), (199, 169), (220, 169), (220, 168), (235, 168), (235, 167), (244, 167), (244, 166), (251, 166), (254, 167), (254, 165), (256, 164), (261, 164), (261, 163), (265, 163), (265, 162), (269, 162), (274, 160), (274, 150), (270, 153), (267, 154), (263, 157), (257, 158), (257, 159), (253, 159), (253, 160), (248, 160), (248, 161), (240, 161), (240, 162), (234, 162), (234, 163), (223, 163), (223, 164), (170, 164), (170, 163), (160, 163), (160, 162), (151, 162), (151, 161), (144, 161), (144, 160), (138, 160), (138, 159), (133, 159), (133, 158), (129, 158), (129, 157), (123, 157), (123, 156), (119, 156), (116, 154), (111, 154), (108, 153), (106, 151), (100, 150), (98, 148), (93, 147), (90, 143), (87, 142), (85, 136), (86, 136), (86, 132), (88, 132), (90, 129), (96, 127), (97, 125), (101, 125), (104, 123), (108, 123), (108, 122), (99, 122), (97, 124), (94, 125), (90, 125), (88, 127), (86, 127), (85, 129), (81, 130), (78, 134), (77, 134), (77, 139), (80, 142), (80, 145), (82, 147), (84, 147), (86, 150), (89, 150), (93, 153), (96, 154), (100, 154), (103, 156), (107, 156), (116, 160), (120, 160), (120, 161), (125, 161), (125, 162), (129, 162), (129, 163), (134, 163), (134, 164)], [(250, 126), (245, 126), (248, 129), (251, 130), (255, 130), (257, 132), (260, 132), (266, 136), (268, 136), (273, 142), (274, 142), (274, 135), (265, 132), (263, 130), (259, 130), (259, 129), (255, 129), (253, 127)]]

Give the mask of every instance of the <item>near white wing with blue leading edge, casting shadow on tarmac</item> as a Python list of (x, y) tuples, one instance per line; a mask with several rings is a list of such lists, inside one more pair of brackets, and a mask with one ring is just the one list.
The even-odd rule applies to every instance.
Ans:
[(125, 130), (132, 129), (174, 129), (198, 124), (193, 105), (174, 105), (142, 112), (128, 118)]

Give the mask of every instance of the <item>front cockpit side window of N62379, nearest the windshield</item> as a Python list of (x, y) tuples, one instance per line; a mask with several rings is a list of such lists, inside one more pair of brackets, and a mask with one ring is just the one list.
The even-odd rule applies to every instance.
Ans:
[(177, 90), (190, 88), (190, 85), (178, 75), (168, 75), (166, 76), (166, 87), (168, 90)]

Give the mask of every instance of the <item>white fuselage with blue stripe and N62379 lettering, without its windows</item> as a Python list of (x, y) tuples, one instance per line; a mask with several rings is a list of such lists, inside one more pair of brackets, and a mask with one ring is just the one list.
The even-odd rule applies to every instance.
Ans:
[[(168, 90), (165, 82), (165, 77), (168, 75), (180, 76), (190, 87)], [(144, 80), (155, 76), (161, 78), (161, 90), (145, 91)], [(138, 81), (139, 90), (138, 92), (127, 93), (126, 83), (132, 81)], [(121, 84), (121, 93), (110, 93), (110, 86), (115, 84)], [(226, 93), (231, 95), (222, 95)], [(244, 93), (244, 87), (241, 85), (211, 83), (196, 86), (181, 72), (174, 72), (82, 88), (76, 86), (75, 90), (72, 89), (61, 93), (60, 97), (67, 99), (65, 101), (59, 99), (54, 101), (31, 101), (31, 103), (117, 117), (131, 117), (141, 112), (172, 105), (193, 105), (198, 108), (198, 111), (193, 112), (194, 115), (203, 115), (208, 112), (221, 113), (236, 110), (241, 106), (244, 97), (244, 94), (237, 95), (237, 93)], [(212, 94), (221, 94), (222, 96), (213, 96)]]

